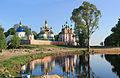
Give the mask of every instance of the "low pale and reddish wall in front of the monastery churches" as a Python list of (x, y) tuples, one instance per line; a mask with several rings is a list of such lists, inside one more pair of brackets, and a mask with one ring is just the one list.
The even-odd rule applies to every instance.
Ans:
[(65, 45), (61, 41), (45, 41), (45, 40), (23, 40), (20, 44), (34, 44), (34, 45)]

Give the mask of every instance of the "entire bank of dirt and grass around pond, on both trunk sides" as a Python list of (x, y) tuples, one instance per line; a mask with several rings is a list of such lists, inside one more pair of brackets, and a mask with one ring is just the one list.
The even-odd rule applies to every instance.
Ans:
[[(21, 66), (35, 59), (44, 58), (45, 56), (50, 55), (64, 56), (88, 54), (86, 50), (86, 48), (62, 47), (55, 45), (24, 45), (19, 49), (2, 50), (0, 53), (0, 77), (4, 75), (20, 77)], [(120, 48), (92, 48), (90, 51), (91, 54), (120, 54)]]

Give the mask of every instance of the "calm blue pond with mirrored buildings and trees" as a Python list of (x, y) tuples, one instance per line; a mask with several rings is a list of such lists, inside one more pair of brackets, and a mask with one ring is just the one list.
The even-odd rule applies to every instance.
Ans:
[(66, 78), (119, 78), (120, 55), (47, 56), (22, 66), (22, 73)]

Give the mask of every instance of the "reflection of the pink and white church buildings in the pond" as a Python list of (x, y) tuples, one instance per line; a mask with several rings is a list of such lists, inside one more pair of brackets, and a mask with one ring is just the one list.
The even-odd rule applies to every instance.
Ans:
[(48, 56), (48, 57), (45, 57), (44, 59), (37, 59), (37, 60), (31, 61), (30, 70), (32, 73), (32, 71), (36, 69), (37, 66), (40, 66), (41, 73), (44, 73), (47, 75), (48, 73), (54, 73), (53, 70), (55, 68), (58, 68), (56, 66), (58, 65), (62, 67), (63, 72), (65, 72), (66, 74), (69, 74), (74, 71), (74, 66), (76, 65), (76, 61), (77, 61), (77, 55), (69, 56), (69, 57), (58, 56), (57, 58)]

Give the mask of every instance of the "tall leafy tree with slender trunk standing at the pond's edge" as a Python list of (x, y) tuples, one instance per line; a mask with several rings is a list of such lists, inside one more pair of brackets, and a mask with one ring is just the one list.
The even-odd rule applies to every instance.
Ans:
[(101, 12), (94, 4), (84, 1), (82, 6), (74, 9), (71, 20), (80, 26), (80, 31), (84, 32), (88, 39), (88, 51), (90, 51), (90, 36), (98, 28), (98, 21), (101, 17)]

